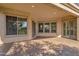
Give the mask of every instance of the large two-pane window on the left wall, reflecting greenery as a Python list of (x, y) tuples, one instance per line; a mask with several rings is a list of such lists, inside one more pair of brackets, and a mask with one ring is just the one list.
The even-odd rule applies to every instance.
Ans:
[(27, 34), (26, 18), (6, 16), (6, 35)]

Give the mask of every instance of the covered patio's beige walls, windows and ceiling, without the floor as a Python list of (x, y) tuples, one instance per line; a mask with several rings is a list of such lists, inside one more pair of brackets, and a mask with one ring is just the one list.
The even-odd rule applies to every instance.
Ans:
[(36, 3), (0, 6), (0, 44), (32, 40), (39, 36), (78, 40), (78, 8), (73, 4)]

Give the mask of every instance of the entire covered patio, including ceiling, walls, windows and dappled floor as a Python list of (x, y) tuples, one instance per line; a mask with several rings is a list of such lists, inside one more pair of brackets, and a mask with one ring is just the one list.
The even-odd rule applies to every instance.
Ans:
[(0, 19), (2, 55), (79, 56), (79, 4), (4, 3)]

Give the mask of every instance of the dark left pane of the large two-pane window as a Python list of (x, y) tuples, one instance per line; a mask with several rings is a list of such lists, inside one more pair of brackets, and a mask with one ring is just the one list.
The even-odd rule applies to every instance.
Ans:
[(6, 16), (6, 34), (17, 34), (17, 18), (13, 16)]

